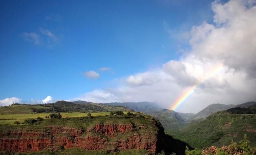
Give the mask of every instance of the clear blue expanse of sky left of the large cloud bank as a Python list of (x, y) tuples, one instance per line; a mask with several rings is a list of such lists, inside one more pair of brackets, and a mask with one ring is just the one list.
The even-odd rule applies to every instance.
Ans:
[[(0, 98), (68, 99), (178, 59), (180, 47), (166, 26), (179, 33), (211, 22), (210, 8), (205, 0), (2, 1)], [(23, 33), (36, 33), (39, 43)], [(112, 72), (82, 76), (101, 67)]]

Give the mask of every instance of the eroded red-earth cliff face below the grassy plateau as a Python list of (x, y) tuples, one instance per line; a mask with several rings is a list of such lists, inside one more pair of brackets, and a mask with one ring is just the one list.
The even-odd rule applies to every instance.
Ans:
[[(20, 129), (0, 133), (0, 151), (27, 153), (49, 149), (67, 148), (86, 150), (104, 149), (110, 152), (126, 149), (145, 149), (156, 153), (164, 135), (161, 126), (147, 130), (141, 124), (95, 124), (92, 128), (45, 126), (44, 129)], [(159, 148), (158, 148), (159, 147)]]

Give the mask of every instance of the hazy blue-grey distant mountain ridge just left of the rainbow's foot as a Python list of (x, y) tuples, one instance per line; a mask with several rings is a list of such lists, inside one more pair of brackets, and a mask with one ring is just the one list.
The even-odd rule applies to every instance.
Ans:
[(124, 106), (134, 111), (144, 112), (146, 114), (148, 114), (149, 112), (161, 110), (160, 106), (158, 106), (154, 102), (112, 102), (112, 103), (103, 103), (102, 105)]

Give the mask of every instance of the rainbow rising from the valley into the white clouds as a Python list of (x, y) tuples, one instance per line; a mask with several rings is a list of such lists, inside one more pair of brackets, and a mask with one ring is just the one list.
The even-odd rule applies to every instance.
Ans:
[(179, 98), (170, 106), (170, 110), (176, 110), (185, 100), (188, 99), (189, 96), (191, 96), (193, 94), (193, 92), (195, 91), (195, 89), (200, 86), (200, 84), (202, 84), (204, 81), (208, 80), (210, 77), (216, 75), (218, 72), (220, 72), (223, 68), (222, 64), (217, 65), (216, 67), (214, 67), (214, 69), (212, 69), (212, 71), (210, 72), (210, 74), (208, 76), (206, 76), (205, 78), (203, 78), (201, 81), (199, 81), (198, 83), (194, 84), (192, 87), (187, 88), (182, 95), (179, 96)]

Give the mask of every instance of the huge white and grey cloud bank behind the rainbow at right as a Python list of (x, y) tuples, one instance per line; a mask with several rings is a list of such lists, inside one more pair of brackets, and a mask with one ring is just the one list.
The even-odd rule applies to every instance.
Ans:
[[(256, 1), (212, 3), (214, 24), (203, 22), (189, 33), (190, 50), (162, 68), (130, 75), (116, 88), (80, 96), (93, 102), (158, 102), (169, 108), (193, 86), (177, 111), (198, 112), (209, 104), (256, 100)], [(220, 67), (218, 69), (218, 67)]]

